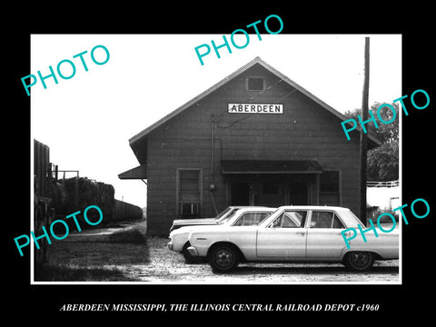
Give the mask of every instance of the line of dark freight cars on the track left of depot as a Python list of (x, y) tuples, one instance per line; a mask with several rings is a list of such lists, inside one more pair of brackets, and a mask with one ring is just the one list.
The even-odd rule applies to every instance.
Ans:
[[(65, 178), (65, 173), (72, 172), (76, 174), (75, 177)], [(59, 173), (64, 173), (64, 177), (58, 178)], [(65, 215), (77, 211), (84, 212), (89, 205), (97, 205), (102, 210), (104, 223), (143, 218), (142, 208), (114, 198), (113, 185), (79, 177), (78, 171), (58, 170), (57, 165), (50, 163), (50, 148), (36, 140), (34, 140), (34, 186), (33, 231), (35, 235), (43, 234), (42, 226), (49, 226), (57, 219), (64, 220)], [(88, 217), (93, 221), (91, 215)], [(87, 224), (81, 223), (82, 225)], [(45, 238), (40, 239), (38, 243), (40, 250), (35, 251), (35, 262), (43, 263), (46, 259), (47, 243)]]

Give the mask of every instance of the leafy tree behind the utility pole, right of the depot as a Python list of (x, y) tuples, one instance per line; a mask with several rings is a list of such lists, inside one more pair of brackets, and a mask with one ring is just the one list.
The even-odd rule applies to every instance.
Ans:
[[(370, 110), (377, 121), (378, 128), (372, 123), (365, 124), (369, 134), (372, 134), (381, 141), (381, 145), (368, 151), (367, 158), (367, 179), (368, 181), (387, 182), (399, 178), (399, 105), (390, 104), (395, 109), (392, 112), (389, 106), (384, 105), (379, 112), (384, 122), (393, 121), (389, 124), (381, 123), (377, 114), (380, 103), (372, 104)], [(362, 115), (361, 109), (347, 111), (345, 115), (354, 118)], [(395, 117), (394, 117), (395, 115)]]

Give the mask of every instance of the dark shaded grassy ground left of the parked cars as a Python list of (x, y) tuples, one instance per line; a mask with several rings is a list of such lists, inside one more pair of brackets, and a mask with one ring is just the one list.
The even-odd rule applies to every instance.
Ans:
[[(35, 265), (35, 282), (130, 281), (120, 266), (150, 262), (140, 228), (83, 233), (47, 246), (47, 261)], [(94, 242), (93, 242), (94, 241)], [(37, 250), (36, 250), (37, 251)]]

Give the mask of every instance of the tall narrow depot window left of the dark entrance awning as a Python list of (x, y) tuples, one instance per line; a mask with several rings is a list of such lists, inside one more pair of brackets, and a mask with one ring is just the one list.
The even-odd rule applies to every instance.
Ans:
[(183, 217), (200, 214), (201, 170), (178, 170), (178, 214)]

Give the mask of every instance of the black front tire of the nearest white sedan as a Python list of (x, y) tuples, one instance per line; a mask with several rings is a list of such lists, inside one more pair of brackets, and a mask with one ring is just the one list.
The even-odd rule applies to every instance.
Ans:
[(218, 244), (208, 254), (208, 262), (213, 272), (233, 272), (239, 264), (239, 252), (231, 244)]

